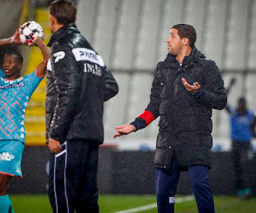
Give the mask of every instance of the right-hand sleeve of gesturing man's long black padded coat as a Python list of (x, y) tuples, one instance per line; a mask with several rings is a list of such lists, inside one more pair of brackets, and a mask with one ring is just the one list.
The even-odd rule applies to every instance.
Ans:
[(197, 97), (200, 103), (213, 109), (224, 109), (227, 103), (227, 95), (224, 92), (224, 81), (214, 61), (208, 61), (204, 76), (202, 94)]

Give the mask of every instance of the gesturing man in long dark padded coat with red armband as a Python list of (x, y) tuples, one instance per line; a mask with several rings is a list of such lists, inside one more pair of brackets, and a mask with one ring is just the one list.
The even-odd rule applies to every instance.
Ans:
[(160, 116), (154, 153), (160, 213), (174, 212), (181, 170), (189, 170), (198, 211), (214, 212), (208, 182), (212, 108), (223, 109), (227, 97), (218, 66), (195, 48), (195, 40), (193, 26), (172, 26), (166, 40), (169, 54), (156, 66), (148, 107), (131, 124), (117, 126), (113, 135), (141, 130)]

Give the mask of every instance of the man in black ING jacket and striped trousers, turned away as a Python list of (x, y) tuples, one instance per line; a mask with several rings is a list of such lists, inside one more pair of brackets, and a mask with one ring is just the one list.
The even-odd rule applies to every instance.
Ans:
[(118, 93), (118, 85), (75, 26), (76, 11), (67, 0), (49, 6), (49, 200), (54, 212), (94, 213), (99, 212), (96, 175), (103, 102)]

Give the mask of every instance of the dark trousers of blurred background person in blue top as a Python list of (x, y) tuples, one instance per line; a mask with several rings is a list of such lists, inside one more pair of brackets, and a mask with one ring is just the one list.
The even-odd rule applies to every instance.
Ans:
[(250, 151), (250, 141), (238, 142), (232, 141), (232, 159), (235, 169), (235, 187), (236, 190), (250, 187), (250, 177), (248, 174), (250, 160), (248, 152)]

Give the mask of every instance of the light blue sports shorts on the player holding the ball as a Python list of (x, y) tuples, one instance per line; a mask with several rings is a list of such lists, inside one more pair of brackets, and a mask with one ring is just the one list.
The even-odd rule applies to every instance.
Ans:
[(21, 157), (24, 143), (21, 141), (0, 141), (0, 173), (22, 176)]

